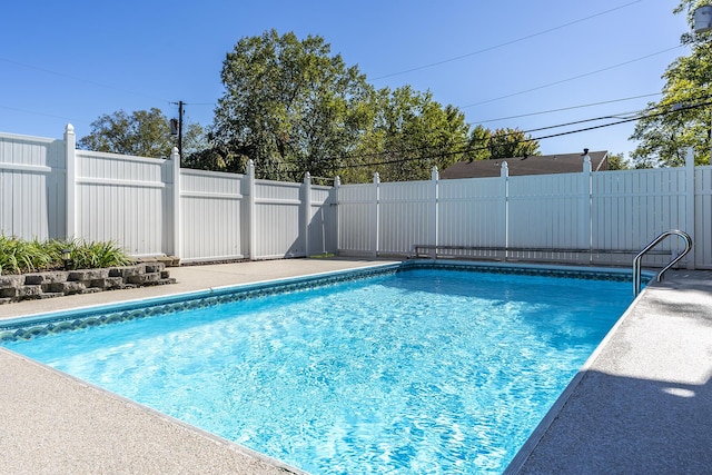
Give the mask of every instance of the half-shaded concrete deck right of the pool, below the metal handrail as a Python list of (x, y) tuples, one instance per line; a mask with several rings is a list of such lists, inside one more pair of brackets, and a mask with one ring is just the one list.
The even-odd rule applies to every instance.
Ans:
[(712, 471), (712, 271), (652, 283), (508, 474)]

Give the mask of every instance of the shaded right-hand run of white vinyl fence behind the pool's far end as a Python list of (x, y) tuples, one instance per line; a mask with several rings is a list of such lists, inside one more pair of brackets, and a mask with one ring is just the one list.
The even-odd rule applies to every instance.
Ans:
[[(338, 249), (353, 256), (442, 255), (630, 265), (663, 231), (694, 241), (690, 268), (712, 268), (712, 167), (591, 171), (338, 187)], [(664, 266), (670, 238), (645, 257)]]

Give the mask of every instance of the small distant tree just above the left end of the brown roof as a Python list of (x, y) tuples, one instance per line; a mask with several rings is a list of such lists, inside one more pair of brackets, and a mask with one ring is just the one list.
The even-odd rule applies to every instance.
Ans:
[(538, 141), (527, 137), (522, 130), (490, 130), (478, 125), (469, 132), (466, 155), (469, 161), (536, 155), (541, 155)]

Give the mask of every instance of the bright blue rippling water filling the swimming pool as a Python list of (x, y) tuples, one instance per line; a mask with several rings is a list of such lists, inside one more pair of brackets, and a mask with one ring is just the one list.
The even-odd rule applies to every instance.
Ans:
[(4, 346), (314, 474), (494, 474), (632, 300), (436, 268), (265, 294)]

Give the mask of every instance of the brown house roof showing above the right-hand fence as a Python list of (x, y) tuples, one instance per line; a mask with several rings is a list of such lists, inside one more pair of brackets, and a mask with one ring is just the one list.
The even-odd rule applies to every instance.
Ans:
[[(609, 152), (590, 151), (591, 169), (609, 169)], [(531, 157), (498, 158), (495, 160), (458, 161), (439, 174), (441, 179), (498, 177), (502, 162), (507, 162), (511, 177), (522, 175), (577, 174), (583, 171), (583, 154), (541, 155)]]

